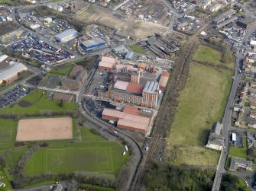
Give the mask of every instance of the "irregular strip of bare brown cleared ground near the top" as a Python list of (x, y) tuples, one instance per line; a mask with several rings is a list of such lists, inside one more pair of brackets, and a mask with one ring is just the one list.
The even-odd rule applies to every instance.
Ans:
[(82, 19), (88, 24), (96, 23), (115, 30), (121, 30), (123, 33), (131, 34), (131, 37), (137, 37), (139, 39), (145, 38), (153, 33), (164, 33), (167, 30), (167, 27), (163, 27), (160, 24), (153, 24), (141, 20), (136, 21), (131, 18), (116, 18), (109, 11), (95, 6), (84, 8), (78, 11), (76, 15), (77, 18)]

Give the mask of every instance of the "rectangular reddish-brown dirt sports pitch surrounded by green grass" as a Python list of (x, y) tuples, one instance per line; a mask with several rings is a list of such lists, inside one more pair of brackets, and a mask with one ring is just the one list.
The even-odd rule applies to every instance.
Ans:
[(18, 121), (17, 142), (73, 138), (72, 118), (21, 119)]

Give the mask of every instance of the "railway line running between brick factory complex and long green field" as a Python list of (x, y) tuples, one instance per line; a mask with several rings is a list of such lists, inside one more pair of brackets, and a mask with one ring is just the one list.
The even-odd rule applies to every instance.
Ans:
[[(180, 56), (180, 59), (177, 62), (177, 66), (176, 66), (180, 68), (177, 68), (177, 72), (174, 74), (175, 76), (170, 84), (170, 88), (168, 88), (167, 92), (165, 93), (165, 97), (172, 97), (172, 90), (179, 83), (180, 75), (183, 74), (186, 59), (188, 59), (188, 57), (190, 56), (191, 50), (193, 49), (193, 44), (198, 39), (197, 36), (199, 35), (199, 33), (205, 30), (206, 27), (208, 27), (208, 25), (209, 23), (203, 25), (203, 27), (201, 27), (196, 33), (194, 33), (193, 36), (190, 37), (190, 40), (186, 43), (183, 49), (183, 54), (182, 56)], [(147, 169), (150, 165), (151, 158), (153, 157), (154, 152), (156, 151), (157, 141), (160, 138), (161, 132), (163, 132), (161, 131), (162, 130), (161, 127), (163, 126), (165, 114), (167, 113), (169, 108), (170, 108), (169, 102), (167, 102), (166, 104), (162, 104), (160, 106), (160, 110), (159, 110), (159, 113), (157, 114), (157, 120), (151, 136), (150, 149), (147, 151), (146, 157), (143, 158), (143, 160), (141, 161), (141, 166), (138, 170), (137, 180), (133, 188), (133, 190), (135, 191), (141, 190), (141, 187), (144, 185)]]

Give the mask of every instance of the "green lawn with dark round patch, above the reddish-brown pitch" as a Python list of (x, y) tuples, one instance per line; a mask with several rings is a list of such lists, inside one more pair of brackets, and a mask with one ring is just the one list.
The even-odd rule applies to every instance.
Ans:
[(13, 107), (5, 107), (0, 110), (0, 113), (17, 113), (17, 114), (34, 114), (40, 113), (41, 110), (51, 111), (65, 111), (65, 110), (76, 110), (76, 103), (63, 103), (63, 107), (59, 106), (59, 100), (50, 100), (46, 96), (47, 91), (35, 90), (32, 91), (25, 97), (22, 97), (19, 101), (28, 101), (31, 104), (30, 107), (21, 107), (15, 104)]

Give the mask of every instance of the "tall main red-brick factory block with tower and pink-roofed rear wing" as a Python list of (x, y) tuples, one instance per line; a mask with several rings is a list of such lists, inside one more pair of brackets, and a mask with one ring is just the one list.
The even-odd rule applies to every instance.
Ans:
[(99, 88), (98, 96), (100, 98), (132, 103), (142, 107), (157, 106), (159, 83), (147, 80), (141, 84), (144, 69), (138, 68), (137, 65), (117, 64), (116, 59), (102, 57), (102, 62), (99, 62), (99, 70), (110, 72), (111, 78), (108, 87)]

